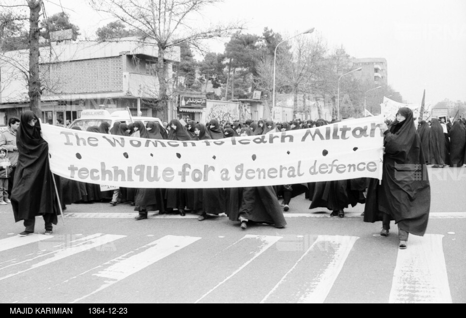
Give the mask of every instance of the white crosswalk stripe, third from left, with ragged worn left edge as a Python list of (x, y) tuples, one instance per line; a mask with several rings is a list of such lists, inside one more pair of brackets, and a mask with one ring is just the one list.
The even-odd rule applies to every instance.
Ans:
[[(138, 249), (146, 249), (145, 251), (142, 251), (128, 258), (126, 258), (128, 254), (117, 257), (111, 260), (110, 262), (100, 266), (103, 267), (109, 265), (107, 268), (104, 268), (100, 270), (97, 274), (94, 274), (94, 276), (105, 278), (105, 284), (101, 285), (99, 288), (97, 288), (90, 294), (75, 299), (70, 303), (82, 301), (83, 299), (101, 291), (102, 289), (105, 289), (111, 285), (118, 283), (122, 279), (138, 272), (143, 268), (150, 266), (151, 264), (154, 264), (157, 261), (160, 261), (166, 256), (176, 251), (179, 251), (200, 239), (200, 237), (192, 236), (166, 235)], [(89, 270), (85, 273), (87, 272), (89, 272)]]

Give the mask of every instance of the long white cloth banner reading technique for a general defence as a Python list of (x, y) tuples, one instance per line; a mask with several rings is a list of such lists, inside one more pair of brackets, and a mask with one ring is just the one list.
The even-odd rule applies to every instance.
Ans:
[(42, 125), (50, 170), (130, 188), (220, 188), (382, 178), (382, 116), (219, 140), (123, 137)]

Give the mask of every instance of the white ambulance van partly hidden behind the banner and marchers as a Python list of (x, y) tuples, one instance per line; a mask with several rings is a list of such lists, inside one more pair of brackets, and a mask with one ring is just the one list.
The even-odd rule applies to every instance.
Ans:
[(104, 121), (108, 122), (110, 124), (110, 128), (112, 128), (116, 121), (129, 124), (131, 123), (131, 119), (133, 119), (133, 122), (138, 120), (142, 121), (144, 126), (147, 125), (149, 121), (155, 121), (161, 124), (163, 127), (162, 121), (159, 118), (137, 116), (132, 116), (130, 118), (130, 114), (126, 110), (115, 111), (110, 114), (107, 110), (104, 109), (85, 109), (81, 112), (81, 117), (73, 120), (68, 128), (78, 126), (81, 128), (81, 130), (86, 131), (88, 127), (100, 126), (100, 124)]

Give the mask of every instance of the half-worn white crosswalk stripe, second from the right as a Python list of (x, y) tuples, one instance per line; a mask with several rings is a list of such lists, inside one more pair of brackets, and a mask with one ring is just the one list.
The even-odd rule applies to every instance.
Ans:
[[(295, 289), (296, 282), (303, 284), (303, 288), (301, 295), (293, 295), (292, 302), (324, 302), (358, 238), (356, 236), (319, 235), (311, 247), (304, 252), (296, 264), (272, 288), (261, 303), (282, 302), (283, 299), (280, 299), (280, 295), (283, 291)], [(319, 263), (319, 258), (316, 257), (319, 250), (323, 250), (326, 255), (321, 260), (323, 263)], [(316, 268), (316, 270), (312, 271), (316, 275), (303, 277), (300, 268), (310, 268), (311, 265)]]

